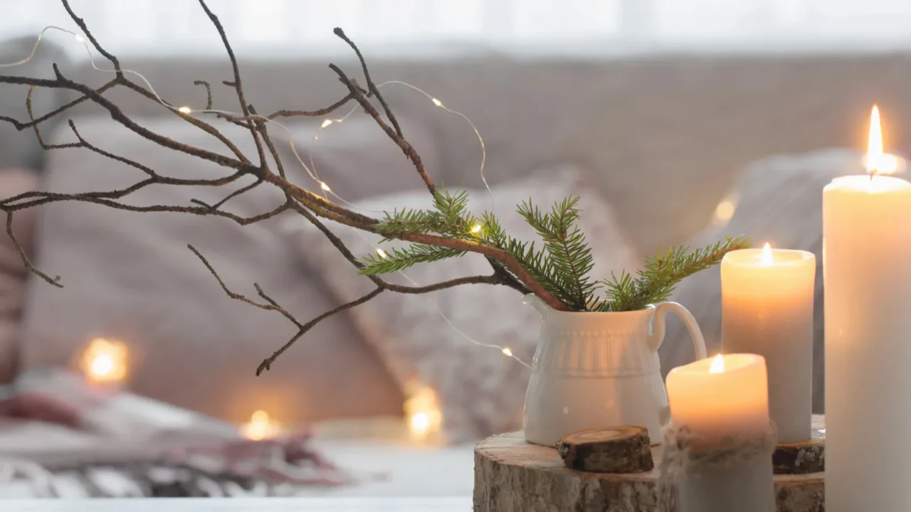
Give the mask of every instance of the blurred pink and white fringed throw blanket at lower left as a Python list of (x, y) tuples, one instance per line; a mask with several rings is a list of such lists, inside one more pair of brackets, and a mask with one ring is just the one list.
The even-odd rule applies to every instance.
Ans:
[[(360, 479), (315, 452), (306, 432), (251, 441), (231, 425), (58, 371), (29, 374), (16, 387), (0, 400), (0, 466), (26, 460), (50, 472), (189, 467), (267, 486), (342, 486)], [(56, 435), (47, 435), (49, 426)]]

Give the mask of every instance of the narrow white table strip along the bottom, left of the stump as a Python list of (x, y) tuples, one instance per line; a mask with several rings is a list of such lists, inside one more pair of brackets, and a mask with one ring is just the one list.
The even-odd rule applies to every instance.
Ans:
[(470, 497), (10, 499), (3, 512), (471, 512)]

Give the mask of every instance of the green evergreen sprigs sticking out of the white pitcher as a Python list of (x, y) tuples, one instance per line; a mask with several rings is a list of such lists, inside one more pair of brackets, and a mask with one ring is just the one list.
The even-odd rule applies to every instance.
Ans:
[[(439, 189), (434, 194), (433, 210), (394, 210), (385, 213), (377, 228), (381, 234), (435, 234), (461, 240), (473, 240), (507, 251), (544, 289), (563, 302), (568, 311), (620, 312), (645, 308), (650, 303), (665, 301), (682, 279), (722, 261), (730, 251), (750, 246), (744, 237), (726, 237), (704, 248), (671, 247), (647, 257), (636, 275), (621, 271), (610, 279), (596, 281), (589, 277), (595, 258), (578, 228), (581, 211), (578, 196), (558, 201), (550, 211), (542, 211), (532, 200), (523, 201), (518, 213), (537, 231), (543, 244), (519, 241), (509, 236), (491, 212), (480, 217), (468, 212), (468, 195), (461, 191), (450, 194)], [(415, 243), (391, 252), (377, 251), (363, 259), (362, 274), (402, 271), (418, 263), (459, 257), (465, 251)], [(508, 269), (493, 261), (502, 271)], [(603, 289), (603, 297), (599, 292)]]

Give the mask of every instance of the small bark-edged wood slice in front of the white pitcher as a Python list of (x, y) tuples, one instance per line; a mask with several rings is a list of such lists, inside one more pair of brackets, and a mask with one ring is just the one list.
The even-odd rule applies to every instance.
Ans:
[(591, 428), (564, 435), (557, 453), (569, 469), (594, 473), (641, 473), (655, 466), (643, 426)]

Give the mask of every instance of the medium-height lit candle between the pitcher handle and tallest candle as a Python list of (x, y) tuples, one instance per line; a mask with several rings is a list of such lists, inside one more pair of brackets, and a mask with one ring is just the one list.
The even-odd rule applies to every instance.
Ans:
[(812, 252), (769, 244), (722, 260), (722, 347), (765, 358), (769, 415), (780, 443), (810, 438), (815, 274)]

